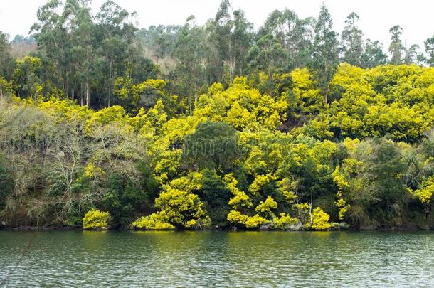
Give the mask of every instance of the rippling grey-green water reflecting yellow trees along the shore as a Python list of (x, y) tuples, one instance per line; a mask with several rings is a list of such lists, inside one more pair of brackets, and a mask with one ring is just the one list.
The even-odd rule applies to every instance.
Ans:
[(0, 231), (0, 287), (423, 287), (431, 232)]

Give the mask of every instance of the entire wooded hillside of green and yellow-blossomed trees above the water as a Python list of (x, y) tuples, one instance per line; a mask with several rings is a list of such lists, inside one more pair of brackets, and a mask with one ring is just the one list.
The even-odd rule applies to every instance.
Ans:
[(0, 226), (434, 228), (434, 36), (134, 17), (51, 0), (0, 33)]

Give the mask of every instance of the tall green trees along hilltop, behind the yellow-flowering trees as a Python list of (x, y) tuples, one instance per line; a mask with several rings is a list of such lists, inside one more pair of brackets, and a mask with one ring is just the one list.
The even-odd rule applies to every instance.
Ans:
[[(150, 78), (168, 81), (169, 90), (191, 112), (194, 100), (213, 82), (228, 87), (240, 75), (253, 79), (265, 75), (272, 91), (273, 74), (307, 67), (327, 102), (329, 82), (339, 63), (361, 68), (386, 63), (434, 65), (434, 36), (425, 41), (423, 54), (418, 45), (406, 46), (402, 28), (393, 26), (388, 58), (379, 41), (364, 36), (354, 12), (340, 35), (333, 31), (324, 4), (317, 18), (275, 10), (258, 31), (229, 0), (221, 1), (216, 16), (203, 26), (190, 16), (183, 26), (139, 29), (135, 14), (114, 1), (106, 1), (93, 15), (90, 1), (50, 0), (37, 16), (31, 36), (16, 36), (9, 43), (9, 36), (0, 34), (0, 78), (11, 82), (20, 97), (55, 95), (97, 109), (121, 105), (125, 94), (134, 94), (134, 85)], [(36, 51), (11, 58), (11, 45), (34, 43)], [(144, 102), (137, 104), (145, 107)]]

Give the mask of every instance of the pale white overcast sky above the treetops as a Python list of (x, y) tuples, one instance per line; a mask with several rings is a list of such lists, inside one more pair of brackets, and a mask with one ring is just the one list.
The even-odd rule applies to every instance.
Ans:
[[(93, 11), (104, 0), (93, 0)], [(205, 23), (216, 14), (220, 0), (115, 0), (128, 11), (136, 11), (139, 27), (158, 24), (183, 24), (188, 16), (196, 16), (196, 23)], [(275, 9), (291, 9), (300, 17), (317, 17), (323, 0), (232, 0), (234, 9), (241, 8), (255, 28)], [(36, 10), (46, 0), (0, 0), (0, 31), (26, 36), (36, 21)], [(359, 26), (365, 36), (389, 43), (388, 29), (399, 24), (404, 30), (403, 39), (408, 46), (423, 41), (434, 34), (433, 0), (324, 0), (334, 21), (334, 28), (341, 32), (344, 21), (352, 11), (360, 16)]]

